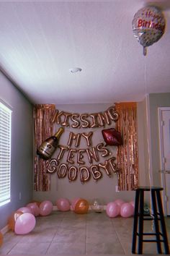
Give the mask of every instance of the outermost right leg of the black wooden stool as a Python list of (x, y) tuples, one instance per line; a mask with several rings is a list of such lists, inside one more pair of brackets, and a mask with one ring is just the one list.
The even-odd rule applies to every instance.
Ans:
[(166, 253), (166, 255), (169, 255), (170, 254), (169, 253), (169, 242), (168, 242), (168, 237), (167, 237), (167, 233), (166, 233), (166, 225), (165, 225), (164, 212), (163, 212), (163, 208), (162, 208), (160, 191), (156, 191), (156, 195), (157, 195), (157, 200), (158, 200), (158, 211), (159, 211), (160, 218), (161, 218), (161, 229), (162, 229), (162, 234), (164, 236), (165, 253)]

